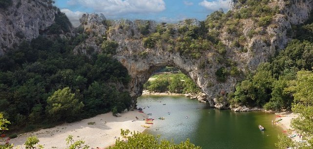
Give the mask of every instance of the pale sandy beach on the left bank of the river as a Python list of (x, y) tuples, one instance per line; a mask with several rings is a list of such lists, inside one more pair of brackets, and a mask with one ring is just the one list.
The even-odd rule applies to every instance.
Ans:
[[(136, 120), (136, 116), (139, 120)], [(143, 119), (147, 117), (145, 113), (137, 110), (125, 112), (120, 117), (115, 117), (110, 112), (75, 123), (22, 133), (17, 138), (11, 139), (10, 143), (13, 143), (17, 149), (24, 149), (22, 145), (26, 139), (37, 136), (40, 140), (39, 144), (45, 149), (65, 149), (67, 147), (65, 139), (68, 135), (73, 135), (75, 141), (83, 140), (90, 148), (103, 149), (115, 144), (116, 137), (120, 137), (121, 129), (143, 132), (145, 128), (141, 125), (145, 125)]]

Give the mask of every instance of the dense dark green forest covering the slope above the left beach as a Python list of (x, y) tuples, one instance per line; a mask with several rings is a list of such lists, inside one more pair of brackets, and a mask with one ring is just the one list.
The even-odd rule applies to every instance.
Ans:
[[(68, 32), (69, 27), (60, 12), (47, 33)], [(11, 130), (47, 128), (130, 107), (131, 98), (123, 91), (130, 80), (126, 68), (105, 50), (90, 57), (74, 54), (86, 36), (78, 32), (68, 39), (40, 36), (0, 57), (0, 112)]]

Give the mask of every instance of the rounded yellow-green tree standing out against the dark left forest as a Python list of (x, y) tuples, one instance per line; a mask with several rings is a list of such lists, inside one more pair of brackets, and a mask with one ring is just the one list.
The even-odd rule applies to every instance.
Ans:
[(69, 87), (59, 89), (47, 100), (46, 112), (54, 118), (55, 121), (60, 119), (73, 120), (83, 108), (83, 102), (75, 98)]

